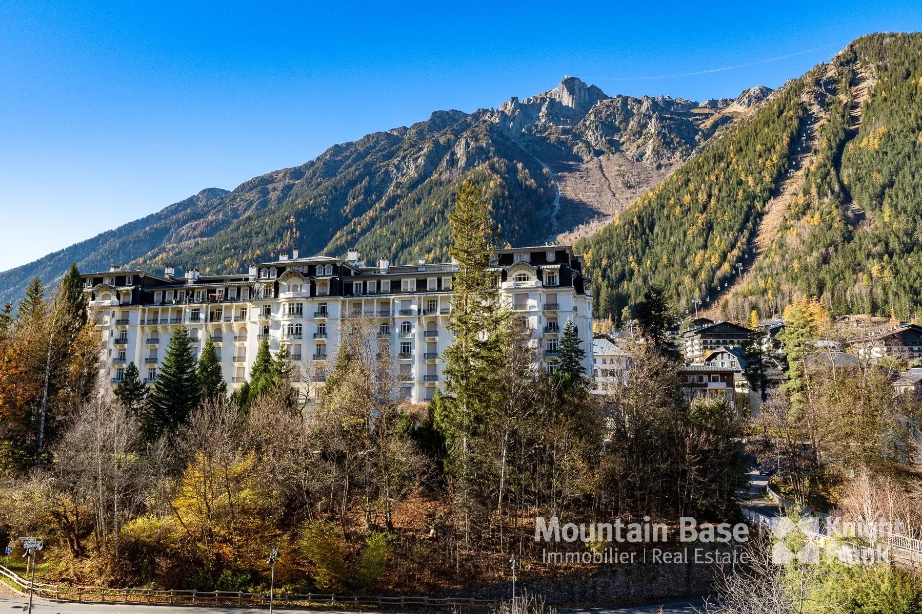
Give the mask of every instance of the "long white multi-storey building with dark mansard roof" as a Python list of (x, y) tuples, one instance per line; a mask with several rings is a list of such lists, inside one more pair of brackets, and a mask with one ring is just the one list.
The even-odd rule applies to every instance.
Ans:
[[(502, 300), (532, 330), (544, 368), (557, 358), (559, 337), (573, 319), (593, 371), (592, 295), (582, 256), (569, 246), (500, 249), (492, 261)], [(185, 326), (201, 351), (207, 336), (218, 347), (224, 378), (239, 387), (264, 336), (277, 351), (287, 346), (300, 376), (296, 385), (315, 397), (335, 359), (340, 321), (373, 319), (378, 342), (396, 356), (401, 396), (430, 400), (443, 388), (442, 353), (452, 342), (454, 263), (369, 266), (357, 251), (345, 259), (299, 258), (298, 250), (260, 262), (247, 273), (177, 277), (126, 271), (84, 273), (91, 317), (102, 330), (102, 369), (112, 385), (134, 362), (147, 383), (157, 377), (172, 330)]]

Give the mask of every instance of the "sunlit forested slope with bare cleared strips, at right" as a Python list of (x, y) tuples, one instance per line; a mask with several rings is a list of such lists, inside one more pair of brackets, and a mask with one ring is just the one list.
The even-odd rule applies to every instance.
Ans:
[(798, 293), (915, 316), (920, 148), (922, 34), (853, 41), (579, 243), (599, 314), (618, 319), (656, 283), (735, 318)]

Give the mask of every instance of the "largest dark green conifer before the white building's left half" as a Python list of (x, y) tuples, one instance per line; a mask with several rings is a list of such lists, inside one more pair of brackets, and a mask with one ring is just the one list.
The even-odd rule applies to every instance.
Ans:
[(199, 400), (199, 382), (192, 355), (192, 340), (184, 326), (176, 327), (148, 396), (144, 430), (156, 438), (176, 433), (186, 423)]

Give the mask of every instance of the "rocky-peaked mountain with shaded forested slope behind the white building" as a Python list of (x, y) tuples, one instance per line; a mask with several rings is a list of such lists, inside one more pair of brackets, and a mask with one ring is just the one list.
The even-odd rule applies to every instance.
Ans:
[(72, 261), (82, 270), (171, 264), (224, 272), (294, 247), (331, 255), (357, 247), (368, 259), (396, 262), (446, 259), (445, 215), (463, 177), (491, 196), (504, 242), (542, 243), (620, 211), (769, 91), (700, 104), (611, 98), (565, 77), (498, 110), (436, 111), (0, 272), (0, 300), (17, 298), (34, 275), (53, 282)]

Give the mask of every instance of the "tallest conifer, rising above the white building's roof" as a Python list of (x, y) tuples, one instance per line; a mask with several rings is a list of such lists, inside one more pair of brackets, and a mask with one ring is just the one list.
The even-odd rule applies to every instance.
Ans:
[(452, 290), (450, 328), (455, 339), (445, 350), (443, 373), (455, 400), (441, 421), (448, 446), (467, 457), (468, 439), (476, 434), (497, 387), (502, 365), (503, 323), (508, 319), (500, 307), (496, 274), (490, 272), (496, 229), (479, 188), (464, 181), (458, 190), (455, 211), (448, 215), (452, 245), (449, 255), (458, 271)]

